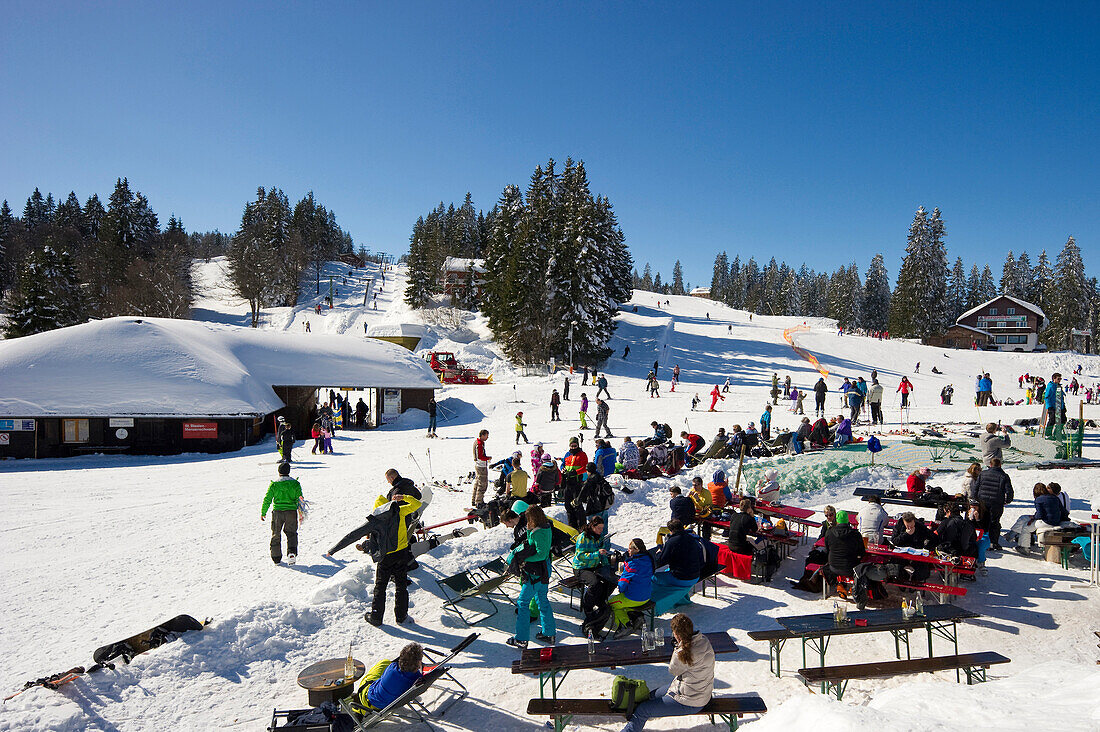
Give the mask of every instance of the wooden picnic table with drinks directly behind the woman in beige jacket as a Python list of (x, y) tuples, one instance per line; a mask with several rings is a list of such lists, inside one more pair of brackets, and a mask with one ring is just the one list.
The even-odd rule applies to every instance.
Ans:
[[(737, 644), (729, 633), (705, 633), (715, 655), (737, 653)], [(653, 651), (642, 651), (637, 637), (626, 641), (597, 643), (590, 655), (587, 643), (551, 646), (550, 658), (542, 658), (546, 648), (527, 648), (517, 660), (512, 662), (513, 674), (538, 674), (539, 698), (546, 698), (549, 684), (551, 698), (558, 698), (558, 688), (572, 670), (584, 668), (617, 668), (639, 664), (667, 664), (672, 660), (675, 646), (671, 635), (664, 636), (664, 644)], [(559, 674), (561, 677), (559, 678)]]

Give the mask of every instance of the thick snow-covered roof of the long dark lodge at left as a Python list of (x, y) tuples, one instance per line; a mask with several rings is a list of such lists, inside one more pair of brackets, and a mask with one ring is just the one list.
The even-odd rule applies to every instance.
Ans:
[(242, 416), (272, 386), (439, 389), (400, 346), (353, 336), (119, 317), (0, 340), (0, 416)]

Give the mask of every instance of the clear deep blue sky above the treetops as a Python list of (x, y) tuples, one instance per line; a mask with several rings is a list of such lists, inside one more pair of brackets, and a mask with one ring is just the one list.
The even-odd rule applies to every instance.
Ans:
[(312, 189), (358, 242), (582, 159), (635, 260), (721, 251), (891, 278), (919, 205), (948, 254), (1100, 273), (1100, 3), (0, 6), (0, 198), (106, 197), (237, 228)]

